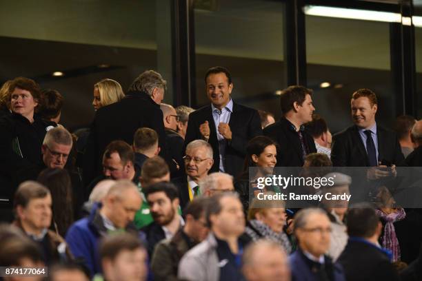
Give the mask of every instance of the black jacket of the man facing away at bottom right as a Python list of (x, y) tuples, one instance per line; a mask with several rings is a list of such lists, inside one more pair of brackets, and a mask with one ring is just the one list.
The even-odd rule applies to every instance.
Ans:
[(399, 280), (387, 254), (370, 242), (350, 239), (337, 262), (343, 266), (346, 280)]

